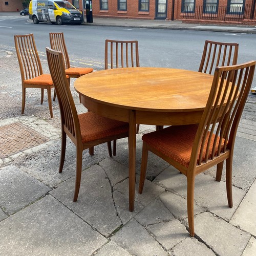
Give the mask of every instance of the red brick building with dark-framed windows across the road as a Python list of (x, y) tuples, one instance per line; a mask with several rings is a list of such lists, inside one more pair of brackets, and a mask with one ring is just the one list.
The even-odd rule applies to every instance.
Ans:
[[(82, 10), (82, 0), (69, 0)], [(87, 0), (84, 0), (87, 1)], [(256, 0), (92, 0), (93, 16), (256, 24)]]

